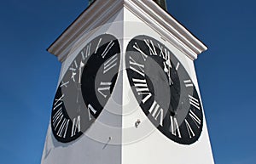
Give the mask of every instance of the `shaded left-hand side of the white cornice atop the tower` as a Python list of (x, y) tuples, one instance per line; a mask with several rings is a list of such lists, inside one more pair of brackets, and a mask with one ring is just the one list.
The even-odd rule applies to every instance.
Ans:
[(85, 32), (92, 31), (107, 22), (113, 14), (116, 14), (124, 6), (123, 3), (121, 0), (96, 0), (67, 27), (66, 31), (47, 50), (50, 54), (55, 54), (60, 61), (63, 61), (73, 42)]

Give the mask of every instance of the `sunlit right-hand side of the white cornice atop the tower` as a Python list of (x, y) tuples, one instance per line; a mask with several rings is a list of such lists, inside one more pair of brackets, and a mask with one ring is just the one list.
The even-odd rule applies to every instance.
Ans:
[(194, 37), (183, 25), (172, 18), (154, 1), (151, 0), (125, 0), (125, 7), (141, 20), (158, 31), (162, 37), (172, 42), (189, 58), (196, 59), (197, 54), (207, 50), (207, 47)]

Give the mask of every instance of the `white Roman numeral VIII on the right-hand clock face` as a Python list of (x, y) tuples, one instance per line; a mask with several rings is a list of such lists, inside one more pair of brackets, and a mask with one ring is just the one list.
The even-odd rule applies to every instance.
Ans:
[(149, 92), (146, 80), (132, 78), (132, 81), (134, 83), (138, 95), (146, 95), (143, 98), (143, 104), (145, 104), (145, 102), (152, 96), (152, 94)]

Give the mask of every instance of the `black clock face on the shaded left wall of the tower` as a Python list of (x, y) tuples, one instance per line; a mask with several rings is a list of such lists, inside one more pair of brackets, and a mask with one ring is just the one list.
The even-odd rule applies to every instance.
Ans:
[(113, 92), (120, 62), (118, 40), (103, 34), (73, 59), (55, 93), (51, 128), (62, 143), (78, 139), (100, 115)]

